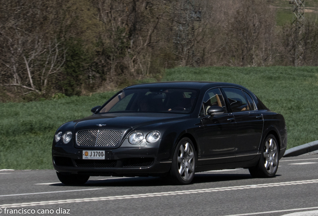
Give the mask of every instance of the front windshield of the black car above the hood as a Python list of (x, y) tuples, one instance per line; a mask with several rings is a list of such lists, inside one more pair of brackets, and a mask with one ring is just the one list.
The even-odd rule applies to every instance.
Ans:
[(104, 112), (173, 112), (189, 113), (197, 90), (180, 88), (134, 88), (119, 92), (99, 111)]

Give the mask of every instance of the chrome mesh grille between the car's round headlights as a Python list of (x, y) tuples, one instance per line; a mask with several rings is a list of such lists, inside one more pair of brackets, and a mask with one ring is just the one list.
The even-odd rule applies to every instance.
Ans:
[(76, 133), (76, 143), (79, 146), (116, 146), (121, 131), (109, 129), (79, 130)]

